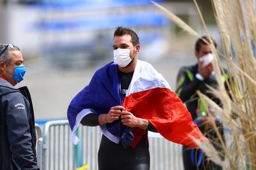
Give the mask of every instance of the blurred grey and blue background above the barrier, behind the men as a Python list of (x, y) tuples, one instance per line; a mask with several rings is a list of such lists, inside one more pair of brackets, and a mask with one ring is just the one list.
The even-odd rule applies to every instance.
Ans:
[[(113, 60), (115, 27), (138, 33), (139, 57), (150, 62), (175, 90), (179, 67), (195, 64), (196, 38), (182, 31), (149, 0), (0, 0), (0, 43), (20, 46), (35, 119), (66, 118), (72, 98), (99, 67)], [(201, 35), (193, 0), (156, 0)], [(220, 45), (211, 1), (198, 1)]]

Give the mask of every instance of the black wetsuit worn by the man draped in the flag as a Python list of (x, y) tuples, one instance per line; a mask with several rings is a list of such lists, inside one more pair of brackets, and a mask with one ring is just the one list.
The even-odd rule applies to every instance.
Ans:
[[(121, 82), (122, 99), (126, 95), (127, 89), (131, 83), (133, 72), (118, 72)], [(81, 124), (88, 126), (99, 125), (99, 115), (86, 115)], [(148, 131), (156, 132), (156, 129), (148, 122)], [(98, 152), (99, 170), (149, 170), (150, 155), (148, 150), (148, 133), (146, 132), (135, 148), (128, 146), (124, 148), (122, 143), (116, 144), (102, 135), (100, 148)]]

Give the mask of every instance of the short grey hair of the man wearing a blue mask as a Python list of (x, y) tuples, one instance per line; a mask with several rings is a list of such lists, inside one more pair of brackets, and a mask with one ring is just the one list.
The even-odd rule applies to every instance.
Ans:
[[(7, 48), (6, 48), (6, 46), (7, 46)], [(5, 51), (4, 51), (4, 48), (6, 48)], [(20, 51), (20, 48), (19, 48), (19, 46), (16, 46), (16, 45), (9, 45), (9, 44), (1, 44), (0, 45), (0, 53), (3, 52), (0, 55), (0, 62), (10, 64), (10, 62), (12, 60), (11, 55), (10, 55), (10, 51)]]

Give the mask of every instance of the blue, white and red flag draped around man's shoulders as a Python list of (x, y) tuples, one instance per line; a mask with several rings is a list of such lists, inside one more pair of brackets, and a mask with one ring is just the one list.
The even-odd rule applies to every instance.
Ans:
[[(147, 119), (164, 138), (181, 145), (196, 148), (193, 136), (207, 141), (194, 124), (189, 111), (168, 82), (148, 62), (138, 60), (127, 90), (124, 103), (120, 93), (118, 66), (110, 62), (95, 72), (89, 85), (84, 87), (68, 106), (68, 121), (72, 141), (79, 142), (76, 129), (82, 118), (90, 113), (108, 113), (113, 106), (124, 106), (135, 117)], [(122, 125), (121, 120), (100, 126), (103, 134), (115, 143), (136, 147), (145, 130)]]

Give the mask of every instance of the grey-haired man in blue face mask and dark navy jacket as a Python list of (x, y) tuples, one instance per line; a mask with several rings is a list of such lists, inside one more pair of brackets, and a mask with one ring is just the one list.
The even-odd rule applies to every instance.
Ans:
[(23, 62), (18, 46), (0, 45), (0, 170), (39, 169), (30, 95), (14, 88), (26, 72)]

